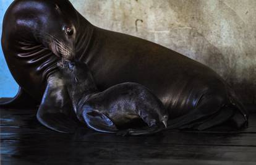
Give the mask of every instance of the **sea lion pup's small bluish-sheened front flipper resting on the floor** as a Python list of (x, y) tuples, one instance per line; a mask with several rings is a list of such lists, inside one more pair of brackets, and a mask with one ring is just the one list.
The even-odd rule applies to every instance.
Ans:
[(98, 132), (116, 133), (118, 130), (116, 128), (116, 125), (114, 125), (113, 121), (111, 121), (108, 116), (101, 112), (83, 111), (83, 119), (88, 127)]

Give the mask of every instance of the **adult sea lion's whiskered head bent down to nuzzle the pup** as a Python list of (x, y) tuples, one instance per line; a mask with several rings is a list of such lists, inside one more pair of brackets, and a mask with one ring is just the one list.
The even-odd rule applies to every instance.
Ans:
[[(64, 59), (74, 57), (78, 14), (68, 0), (17, 1), (17, 28), (33, 33), (38, 43)], [(29, 36), (29, 35), (27, 35)], [(25, 36), (25, 37), (27, 37)]]

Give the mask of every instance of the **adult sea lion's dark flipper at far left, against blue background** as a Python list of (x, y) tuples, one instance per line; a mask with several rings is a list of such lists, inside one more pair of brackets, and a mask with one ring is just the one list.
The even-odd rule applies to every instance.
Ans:
[(32, 96), (28, 95), (22, 88), (19, 88), (17, 95), (14, 98), (1, 98), (0, 99), (0, 108), (36, 108), (38, 103)]

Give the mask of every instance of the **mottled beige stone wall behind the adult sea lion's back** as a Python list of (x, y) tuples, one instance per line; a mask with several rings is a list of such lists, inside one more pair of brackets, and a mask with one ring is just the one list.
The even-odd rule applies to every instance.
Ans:
[(73, 0), (94, 25), (139, 36), (216, 70), (256, 103), (255, 0)]

